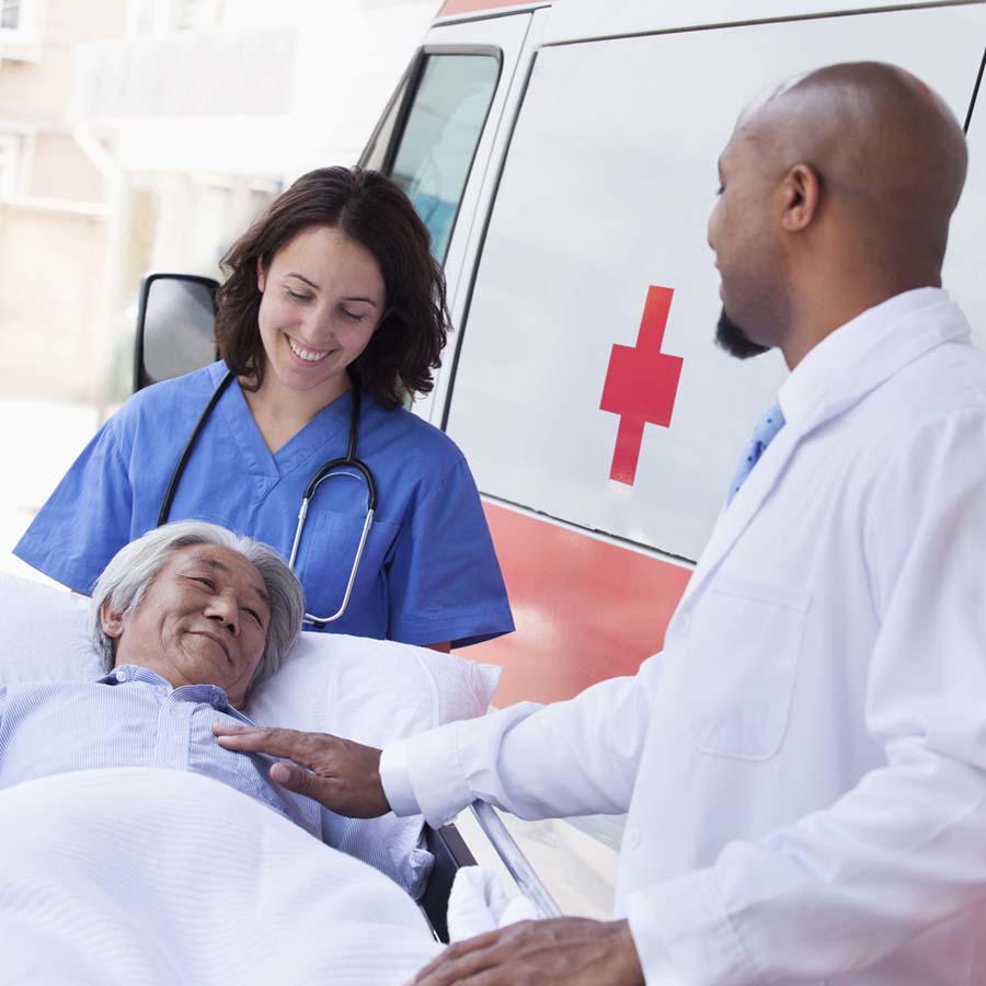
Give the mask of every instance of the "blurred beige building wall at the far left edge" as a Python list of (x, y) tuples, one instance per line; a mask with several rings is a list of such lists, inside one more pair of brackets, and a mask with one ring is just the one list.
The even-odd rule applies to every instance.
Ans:
[(0, 393), (84, 399), (99, 377), (105, 182), (66, 116), (72, 48), (119, 36), (126, 0), (2, 0)]

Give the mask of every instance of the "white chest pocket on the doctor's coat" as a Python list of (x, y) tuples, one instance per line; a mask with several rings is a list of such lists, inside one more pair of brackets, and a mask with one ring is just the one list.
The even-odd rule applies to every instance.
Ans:
[(686, 652), (689, 725), (702, 753), (766, 760), (780, 749), (810, 599), (718, 578), (699, 600)]

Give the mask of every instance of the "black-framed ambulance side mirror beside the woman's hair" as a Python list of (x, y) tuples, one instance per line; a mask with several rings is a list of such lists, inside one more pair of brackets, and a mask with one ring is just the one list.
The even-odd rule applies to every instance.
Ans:
[(194, 274), (147, 274), (137, 302), (134, 391), (218, 358), (214, 326), (219, 282)]

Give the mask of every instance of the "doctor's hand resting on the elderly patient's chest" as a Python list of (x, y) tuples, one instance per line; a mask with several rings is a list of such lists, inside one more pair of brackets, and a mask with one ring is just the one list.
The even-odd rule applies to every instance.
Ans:
[[(380, 783), (380, 750), (328, 733), (299, 733), (216, 723), (217, 742), (226, 749), (284, 757), (294, 764), (275, 764), (271, 779), (289, 791), (319, 801), (337, 815), (376, 818), (390, 811)], [(296, 767), (307, 767), (302, 770)]]

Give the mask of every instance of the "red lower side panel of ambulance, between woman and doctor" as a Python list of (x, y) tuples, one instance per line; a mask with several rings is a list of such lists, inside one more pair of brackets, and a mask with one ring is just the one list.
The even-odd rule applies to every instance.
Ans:
[(689, 569), (483, 503), (514, 610), (515, 633), (470, 647), (504, 667), (498, 707), (558, 701), (661, 650)]

